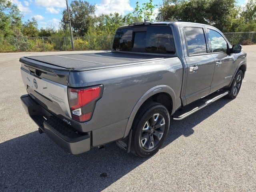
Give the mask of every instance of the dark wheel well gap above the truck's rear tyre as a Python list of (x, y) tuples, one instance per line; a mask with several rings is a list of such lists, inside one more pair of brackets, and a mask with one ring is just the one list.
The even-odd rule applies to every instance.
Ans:
[(172, 97), (169, 94), (164, 92), (154, 94), (150, 98), (148, 98), (144, 102), (144, 104), (147, 103), (148, 101), (154, 101), (154, 102), (160, 103), (166, 107), (166, 109), (170, 114), (172, 113)]

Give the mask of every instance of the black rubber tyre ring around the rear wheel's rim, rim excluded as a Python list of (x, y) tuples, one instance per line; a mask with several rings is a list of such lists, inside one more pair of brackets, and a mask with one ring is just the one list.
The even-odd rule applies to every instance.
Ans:
[[(154, 147), (151, 150), (146, 150), (142, 147), (141, 142), (140, 142), (142, 128), (143, 128), (145, 122), (153, 114), (156, 114), (156, 113), (159, 113), (164, 117), (164, 120), (165, 120), (164, 134), (156, 147)], [(169, 125), (170, 125), (170, 115), (169, 115), (168, 110), (164, 106), (156, 105), (156, 106), (153, 106), (153, 108), (151, 108), (150, 111), (146, 112), (142, 116), (142, 118), (140, 120), (138, 120), (138, 122), (135, 124), (135, 126), (137, 126), (135, 135), (134, 135), (134, 137), (135, 137), (134, 138), (134, 147), (135, 147), (136, 154), (138, 154), (139, 156), (150, 156), (150, 155), (158, 152), (159, 148), (162, 146), (163, 142), (166, 139), (166, 136), (167, 136), (168, 130), (169, 130)]]

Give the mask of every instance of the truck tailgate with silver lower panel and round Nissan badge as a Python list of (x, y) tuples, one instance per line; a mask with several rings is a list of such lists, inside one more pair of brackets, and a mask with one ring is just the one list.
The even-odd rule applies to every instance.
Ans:
[(68, 71), (22, 64), (21, 76), (28, 94), (46, 110), (71, 117), (68, 103)]

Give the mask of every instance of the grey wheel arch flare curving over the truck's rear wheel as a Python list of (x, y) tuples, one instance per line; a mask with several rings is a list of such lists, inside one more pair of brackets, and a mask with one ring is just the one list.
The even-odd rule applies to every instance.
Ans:
[[(148, 90), (139, 100), (138, 102), (136, 103), (136, 105), (134, 106), (131, 114), (130, 114), (130, 117), (128, 119), (128, 123), (126, 125), (126, 130), (125, 130), (125, 133), (124, 133), (124, 138), (126, 136), (128, 136), (129, 132), (130, 132), (130, 129), (132, 128), (132, 123), (133, 123), (133, 120), (135, 118), (135, 115), (136, 113), (138, 112), (139, 108), (142, 106), (142, 104), (148, 99), (150, 98), (151, 96), (153, 96), (154, 94), (157, 94), (157, 93), (167, 93), (171, 96), (172, 98), (172, 113), (175, 112), (175, 109), (176, 109), (176, 95), (174, 93), (174, 90), (172, 88), (170, 88), (169, 86), (167, 85), (158, 85), (158, 86), (155, 86), (153, 88), (151, 88), (150, 90)], [(171, 115), (171, 114), (170, 114)]]

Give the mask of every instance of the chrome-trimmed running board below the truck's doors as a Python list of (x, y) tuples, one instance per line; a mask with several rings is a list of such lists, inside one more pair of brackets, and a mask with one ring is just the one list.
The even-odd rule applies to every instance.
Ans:
[[(217, 94), (217, 96), (216, 96)], [(172, 118), (174, 120), (182, 120), (186, 118), (187, 116), (190, 116), (191, 114), (199, 111), (200, 109), (206, 107), (207, 105), (213, 103), (214, 101), (224, 97), (225, 95), (228, 94), (228, 91), (220, 91), (217, 93), (214, 93), (210, 96), (207, 96), (206, 98), (199, 100), (195, 102), (194, 104), (189, 104), (190, 106), (188, 107), (187, 110), (182, 110), (182, 111), (177, 111), (173, 114)], [(185, 113), (184, 113), (185, 112)]]

